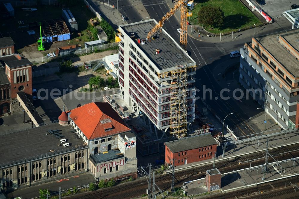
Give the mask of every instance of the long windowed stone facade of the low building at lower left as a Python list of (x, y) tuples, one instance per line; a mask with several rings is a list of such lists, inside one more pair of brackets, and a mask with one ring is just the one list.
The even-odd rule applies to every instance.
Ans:
[[(75, 158), (75, 153), (78, 154), (79, 152), (80, 154), (84, 152), (84, 156), (81, 156), (80, 158), (77, 156), (77, 158)], [(61, 161), (62, 156), (63, 158), (66, 157), (66, 161), (64, 161), (64, 159)], [(56, 179), (65, 178), (85, 172), (85, 170), (88, 168), (87, 157), (88, 149), (78, 149), (77, 151), (73, 151), (71, 153), (62, 155), (60, 154), (54, 157), (30, 161), (27, 163), (20, 163), (16, 166), (0, 168), (0, 181), (2, 178), (4, 178), (5, 186), (16, 186), (15, 188), (23, 188), (26, 186), (32, 186), (35, 184), (41, 184)], [(84, 166), (83, 168), (82, 163)], [(79, 164), (80, 169), (78, 169)], [(66, 172), (61, 173), (61, 168), (64, 166), (67, 167)], [(8, 171), (8, 175), (6, 175), (6, 171)], [(0, 189), (1, 186), (3, 186), (3, 182), (0, 182)]]

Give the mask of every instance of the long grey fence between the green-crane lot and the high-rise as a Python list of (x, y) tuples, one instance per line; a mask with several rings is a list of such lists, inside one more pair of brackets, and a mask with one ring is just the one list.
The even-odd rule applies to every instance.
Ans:
[[(78, 49), (75, 50), (74, 53), (68, 55), (68, 56), (72, 56), (72, 55), (83, 55), (86, 53), (92, 53), (92, 52), (96, 52), (97, 50), (105, 50), (108, 48), (113, 48), (118, 46), (118, 43), (107, 43), (107, 44), (103, 44), (103, 45), (98, 45), (98, 46), (93, 46), (90, 48), (83, 48), (83, 49)], [(58, 56), (58, 57), (63, 57), (63, 56)], [(49, 62), (53, 59), (56, 59), (57, 57), (49, 57), (49, 56), (45, 56), (45, 57), (38, 57), (38, 58), (34, 58), (34, 59), (28, 59), (32, 64), (39, 64), (39, 63), (43, 63), (43, 62)]]

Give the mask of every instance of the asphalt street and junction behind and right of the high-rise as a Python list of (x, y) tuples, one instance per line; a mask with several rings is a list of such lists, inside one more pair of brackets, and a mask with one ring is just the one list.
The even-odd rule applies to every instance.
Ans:
[[(125, 1), (125, 0), (124, 0)], [(158, 1), (158, 0), (141, 0), (144, 6), (146, 7), (150, 17), (155, 19), (157, 22), (166, 14), (173, 3), (170, 1)], [(123, 10), (127, 16), (131, 15), (133, 10)], [(180, 12), (180, 11), (178, 11)], [(138, 15), (136, 12), (134, 15)], [(131, 22), (138, 22), (139, 18), (131, 18)], [(284, 23), (284, 25), (287, 25)], [(177, 29), (180, 28), (180, 22), (175, 16), (172, 16), (168, 21), (164, 23), (164, 29), (172, 36), (175, 41), (179, 43), (180, 37)], [(268, 28), (269, 29), (269, 28)], [(268, 30), (267, 27), (259, 32), (256, 32), (256, 36), (273, 33), (272, 30)], [(277, 25), (275, 32), (284, 30), (283, 27)], [(188, 29), (187, 31), (190, 31)], [(254, 31), (254, 30), (253, 30)], [(190, 31), (191, 32), (191, 31)], [(197, 33), (193, 33), (197, 36)], [(229, 113), (233, 112), (233, 115), (230, 115), (225, 120), (225, 123), (228, 124), (237, 136), (246, 136), (259, 132), (260, 129), (255, 125), (246, 125), (246, 121), (251, 115), (246, 115), (244, 111), (236, 105), (234, 99), (223, 100), (219, 97), (220, 91), (223, 88), (228, 88), (227, 85), (219, 85), (216, 79), (213, 76), (213, 71), (217, 70), (219, 64), (224, 62), (231, 64), (231, 59), (229, 53), (233, 50), (238, 50), (244, 46), (245, 42), (251, 42), (250, 37), (242, 38), (242, 32), (236, 34), (237, 39), (232, 39), (232, 41), (223, 42), (223, 43), (211, 43), (203, 42), (197, 39), (194, 39), (190, 36), (187, 37), (187, 52), (189, 55), (196, 61), (198, 65), (196, 71), (196, 88), (200, 91), (197, 94), (197, 97), (203, 96), (203, 86), (205, 89), (212, 90), (212, 98), (206, 96), (205, 102), (207, 105), (223, 120)], [(229, 37), (229, 36), (227, 36)], [(223, 40), (224, 38), (222, 38)], [(228, 38), (227, 38), (228, 39)], [(238, 59), (235, 59), (233, 62), (238, 62)], [(223, 92), (223, 96), (228, 96), (227, 92)], [(198, 100), (198, 99), (197, 99)], [(199, 101), (198, 101), (199, 102)]]

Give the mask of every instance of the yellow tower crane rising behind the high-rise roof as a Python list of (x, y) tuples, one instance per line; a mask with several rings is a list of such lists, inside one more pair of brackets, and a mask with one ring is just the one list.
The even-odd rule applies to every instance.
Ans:
[(179, 0), (179, 2), (173, 6), (173, 8), (162, 17), (162, 19), (149, 31), (147, 35), (147, 40), (150, 40), (153, 34), (163, 27), (163, 24), (168, 20), (173, 14), (181, 8), (181, 33), (180, 33), (180, 44), (181, 47), (186, 50), (187, 46), (187, 1)]

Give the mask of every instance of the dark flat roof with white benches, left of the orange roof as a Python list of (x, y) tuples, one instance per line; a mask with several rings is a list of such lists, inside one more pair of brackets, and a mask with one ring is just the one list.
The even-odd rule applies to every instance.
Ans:
[[(59, 133), (62, 133), (61, 135), (64, 137), (57, 139), (54, 135), (47, 133), (48, 130), (59, 130)], [(0, 145), (0, 151), (2, 151), (0, 153), (0, 164), (51, 153), (50, 150), (54, 150), (54, 153), (60, 153), (64, 152), (64, 149), (69, 150), (70, 147), (83, 145), (84, 141), (82, 141), (82, 138), (79, 139), (75, 133), (71, 133), (72, 130), (74, 129), (71, 126), (62, 126), (54, 123), (2, 135), (0, 136), (2, 140)], [(58, 146), (59, 140), (64, 138), (71, 146), (66, 148)]]

